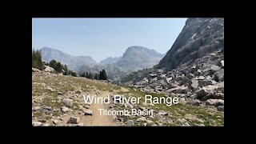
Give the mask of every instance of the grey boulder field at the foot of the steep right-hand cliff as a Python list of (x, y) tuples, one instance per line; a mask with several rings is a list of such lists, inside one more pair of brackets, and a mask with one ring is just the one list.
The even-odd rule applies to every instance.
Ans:
[(170, 94), (185, 98), (191, 104), (199, 102), (194, 105), (210, 105), (224, 111), (224, 49), (174, 70), (151, 70), (144, 77), (133, 83), (138, 90)]

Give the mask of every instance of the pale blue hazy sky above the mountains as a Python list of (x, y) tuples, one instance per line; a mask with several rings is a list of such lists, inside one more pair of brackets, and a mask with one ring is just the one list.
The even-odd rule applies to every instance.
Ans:
[(32, 18), (32, 48), (50, 47), (97, 62), (129, 46), (165, 54), (187, 18)]

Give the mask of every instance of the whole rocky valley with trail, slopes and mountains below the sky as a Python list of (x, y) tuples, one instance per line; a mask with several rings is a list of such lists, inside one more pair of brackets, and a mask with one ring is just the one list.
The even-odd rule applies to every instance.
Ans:
[[(32, 126), (224, 126), (224, 18), (188, 18), (166, 54), (130, 46), (96, 62), (41, 53), (78, 77), (32, 68)], [(79, 76), (103, 69), (107, 80)]]

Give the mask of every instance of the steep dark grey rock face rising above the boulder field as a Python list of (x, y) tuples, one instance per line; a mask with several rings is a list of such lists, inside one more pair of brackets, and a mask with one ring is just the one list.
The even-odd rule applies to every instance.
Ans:
[(224, 18), (188, 18), (174, 45), (158, 64), (173, 70), (214, 50), (224, 49)]

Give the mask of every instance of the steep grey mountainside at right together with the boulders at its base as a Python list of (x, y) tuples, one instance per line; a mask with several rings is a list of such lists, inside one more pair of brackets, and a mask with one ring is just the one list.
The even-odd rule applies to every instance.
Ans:
[(121, 82), (223, 112), (224, 18), (188, 18), (158, 66), (133, 72)]

